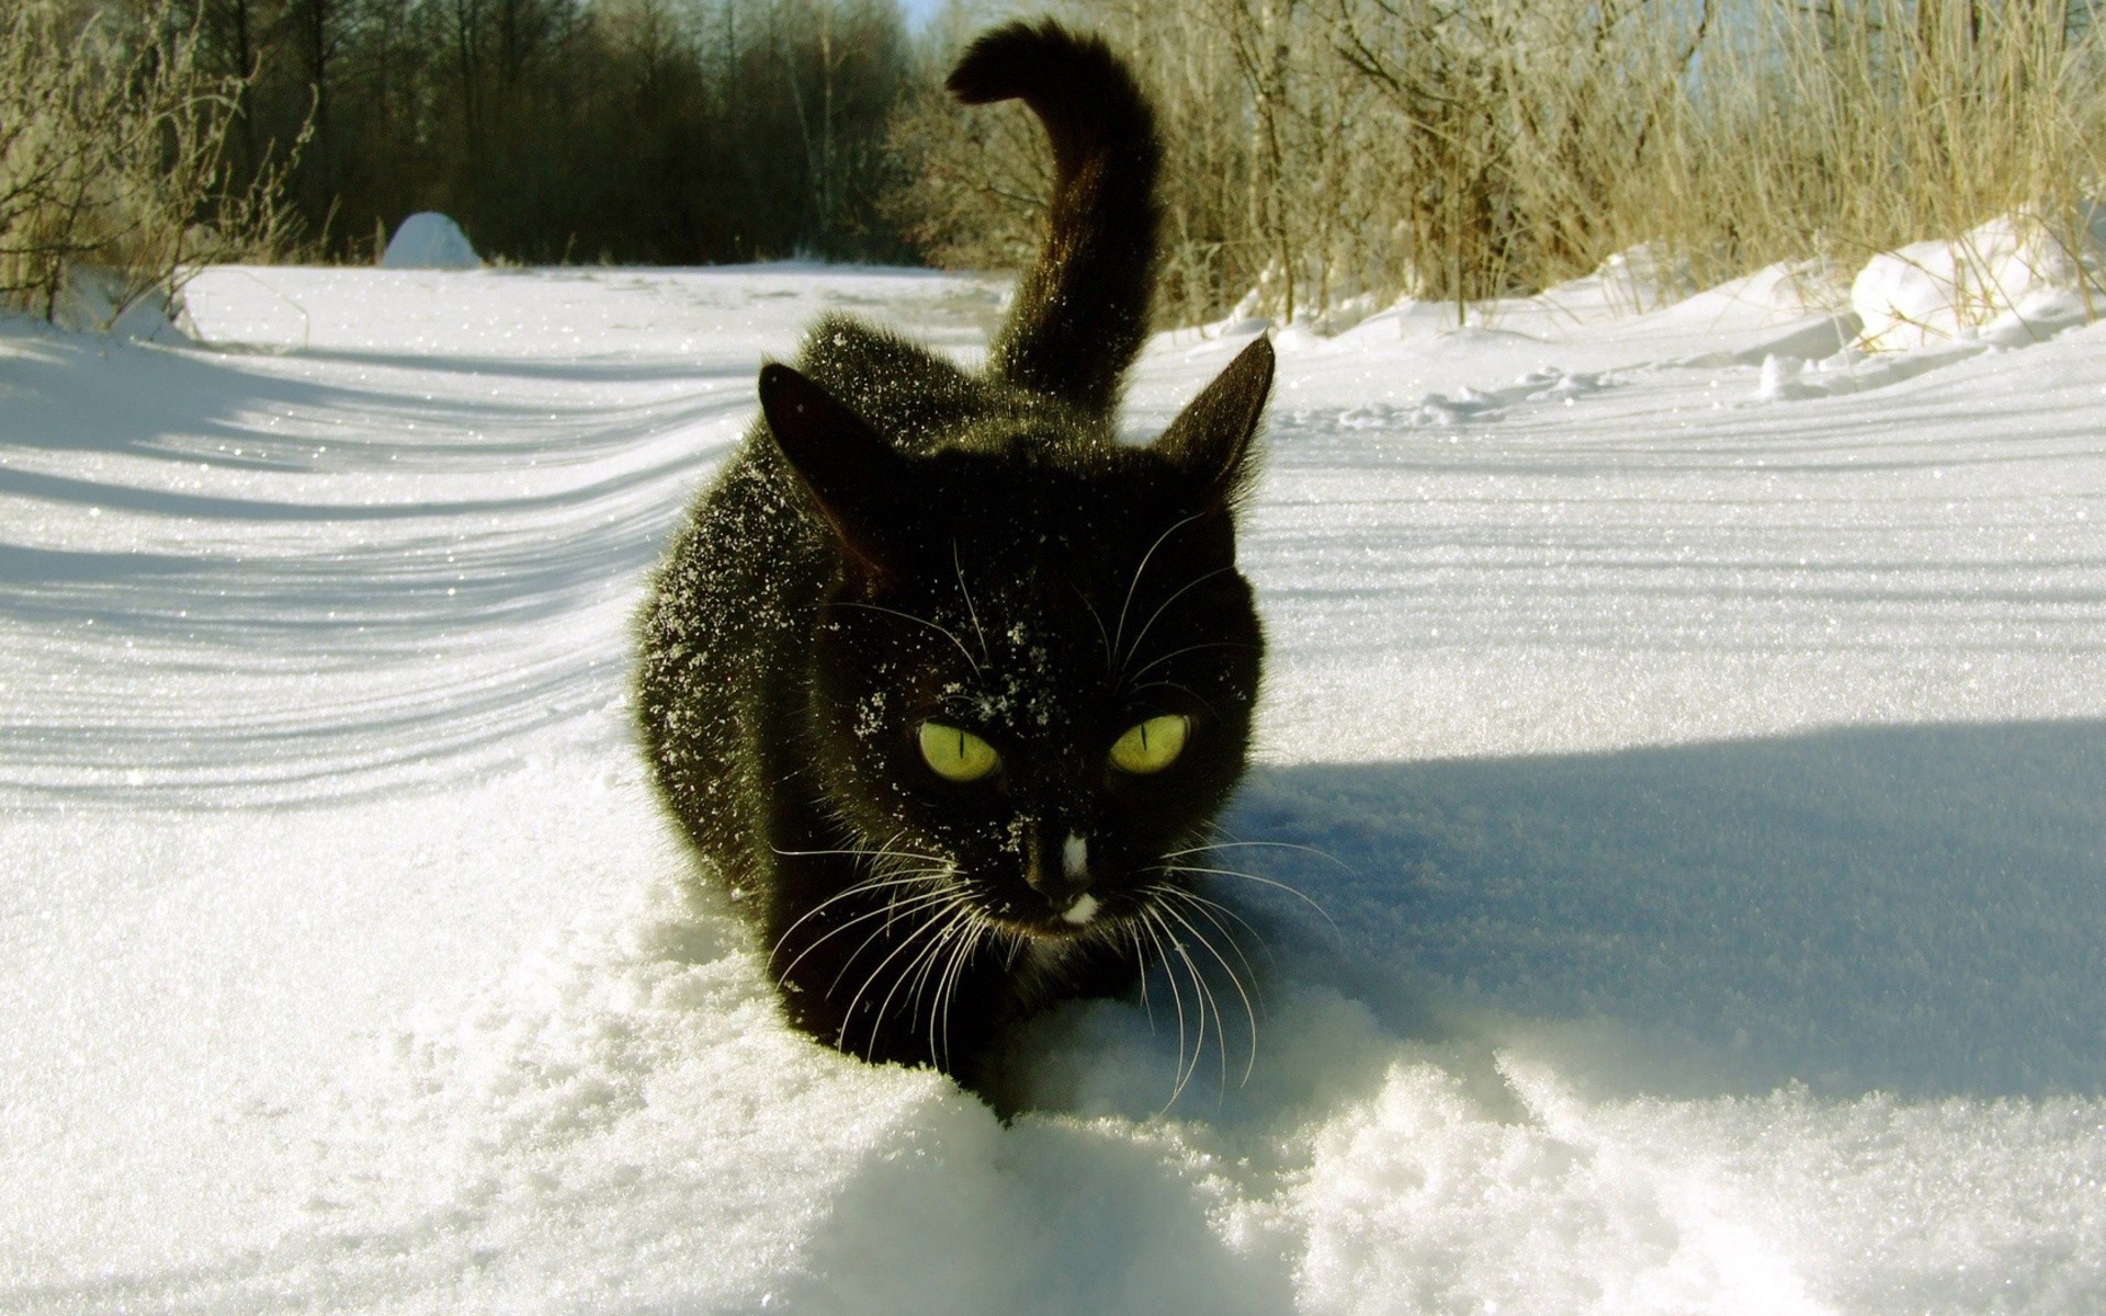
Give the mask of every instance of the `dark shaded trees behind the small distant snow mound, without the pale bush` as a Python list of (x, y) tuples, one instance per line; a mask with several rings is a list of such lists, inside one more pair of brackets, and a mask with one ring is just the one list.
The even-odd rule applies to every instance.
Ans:
[(438, 208), (518, 261), (912, 259), (878, 219), (914, 72), (893, 0), (175, 0), (244, 80), (230, 160), (305, 133), (326, 257)]

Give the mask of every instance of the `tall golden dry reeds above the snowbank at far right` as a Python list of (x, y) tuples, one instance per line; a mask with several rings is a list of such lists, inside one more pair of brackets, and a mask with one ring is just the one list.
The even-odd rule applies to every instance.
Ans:
[(2024, 213), (2074, 238), (2106, 179), (2106, 27), (2060, 0), (1765, 6), (1706, 46), (1615, 238), (1700, 270), (1843, 267)]

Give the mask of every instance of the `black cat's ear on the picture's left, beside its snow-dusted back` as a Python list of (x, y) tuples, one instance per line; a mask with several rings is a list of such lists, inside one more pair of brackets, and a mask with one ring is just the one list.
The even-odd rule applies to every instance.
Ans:
[(760, 411), (775, 446), (863, 566), (880, 566), (878, 529), (885, 507), (897, 505), (903, 459), (885, 436), (863, 423), (830, 392), (790, 366), (760, 366)]

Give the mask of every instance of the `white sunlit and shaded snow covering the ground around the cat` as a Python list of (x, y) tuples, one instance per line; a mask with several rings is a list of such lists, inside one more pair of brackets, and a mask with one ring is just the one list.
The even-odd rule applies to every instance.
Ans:
[(762, 356), (998, 286), (0, 322), (0, 1310), (2102, 1310), (2106, 326), (1868, 356), (1805, 274), (1280, 335), (1228, 828), (1323, 914), (1221, 878), (1255, 1055), (1158, 973), (1009, 1126), (777, 1019), (628, 707)]

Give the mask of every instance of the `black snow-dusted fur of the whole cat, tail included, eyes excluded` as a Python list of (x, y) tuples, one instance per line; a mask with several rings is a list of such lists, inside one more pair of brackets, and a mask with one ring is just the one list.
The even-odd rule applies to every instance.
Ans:
[[(950, 88), (1024, 99), (1053, 139), (1038, 265), (984, 373), (836, 316), (760, 371), (762, 419), (655, 581), (638, 716), (790, 1019), (992, 1093), (1009, 1023), (1129, 990), (1211, 922), (1179, 853), (1243, 775), (1257, 699), (1234, 512), (1272, 350), (1120, 444), (1156, 263), (1150, 107), (1055, 23), (981, 36)], [(1158, 716), (1190, 720), (1181, 756), (1114, 766)], [(1000, 766), (939, 777), (925, 720)]]

